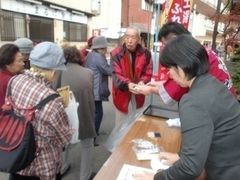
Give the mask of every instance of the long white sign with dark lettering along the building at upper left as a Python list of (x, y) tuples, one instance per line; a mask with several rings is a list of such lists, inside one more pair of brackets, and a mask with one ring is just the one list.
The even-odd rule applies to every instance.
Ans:
[(9, 11), (15, 11), (35, 16), (60, 19), (64, 21), (87, 24), (87, 16), (73, 14), (68, 11), (62, 11), (39, 4), (30, 4), (25, 2), (4, 0), (1, 1), (1, 8)]

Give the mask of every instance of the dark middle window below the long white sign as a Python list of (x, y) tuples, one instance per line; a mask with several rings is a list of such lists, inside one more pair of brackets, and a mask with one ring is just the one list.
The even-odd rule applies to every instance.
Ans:
[(30, 16), (29, 31), (33, 41), (54, 41), (52, 19)]

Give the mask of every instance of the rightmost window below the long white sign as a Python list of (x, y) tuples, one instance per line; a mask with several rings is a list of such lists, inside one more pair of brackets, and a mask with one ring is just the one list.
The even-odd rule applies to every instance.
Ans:
[(65, 21), (64, 33), (67, 41), (86, 41), (87, 25)]

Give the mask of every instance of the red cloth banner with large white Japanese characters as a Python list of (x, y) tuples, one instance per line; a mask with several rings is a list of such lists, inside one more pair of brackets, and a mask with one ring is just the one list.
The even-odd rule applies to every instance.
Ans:
[(191, 3), (191, 0), (173, 0), (167, 15), (167, 20), (178, 22), (183, 24), (185, 28), (188, 28)]

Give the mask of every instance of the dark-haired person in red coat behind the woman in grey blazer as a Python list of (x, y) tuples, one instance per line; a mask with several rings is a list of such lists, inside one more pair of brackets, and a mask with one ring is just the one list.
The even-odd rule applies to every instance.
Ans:
[[(177, 22), (168, 22), (159, 31), (159, 40), (166, 44), (171, 39), (180, 34), (190, 34), (190, 32), (184, 28), (183, 25)], [(231, 76), (225, 66), (224, 62), (217, 57), (217, 54), (209, 48), (206, 48), (209, 57), (210, 70), (209, 73), (225, 84), (229, 91), (236, 95), (235, 88), (231, 80)], [(143, 86), (138, 91), (144, 95), (150, 93), (158, 94), (165, 104), (174, 104), (179, 102), (181, 97), (188, 91), (188, 88), (179, 86), (173, 81), (168, 74), (168, 70), (164, 67), (159, 68), (159, 74), (164, 79), (160, 79), (160, 82), (151, 82), (150, 86)]]

